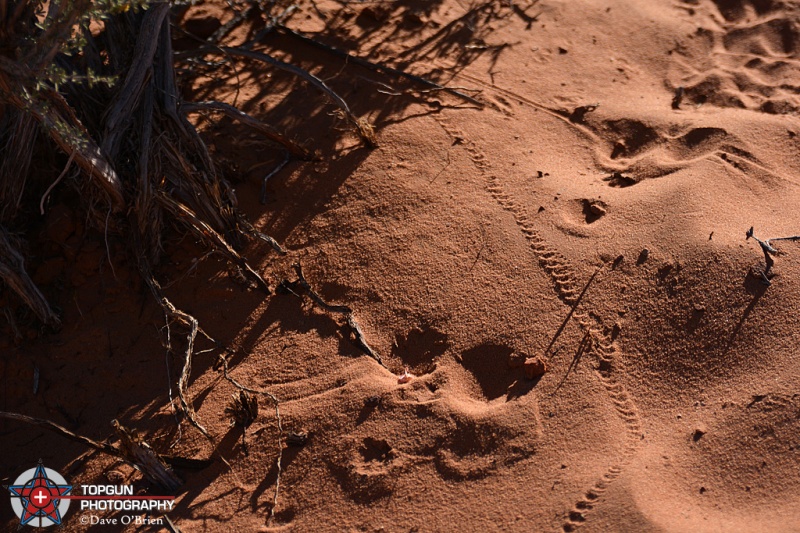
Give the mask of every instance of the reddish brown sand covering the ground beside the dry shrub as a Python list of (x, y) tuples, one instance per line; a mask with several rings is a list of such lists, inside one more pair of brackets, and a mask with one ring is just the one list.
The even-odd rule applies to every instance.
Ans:
[[(230, 17), (222, 5), (179, 21), (207, 35), (208, 17)], [(388, 369), (341, 316), (248, 289), (221, 260), (192, 269), (198, 248), (169, 243), (170, 297), (235, 351), (233, 377), (279, 398), (285, 434), (310, 435), (283, 449), (268, 520), (274, 409), (260, 398), (245, 453), (219, 351), (199, 353), (189, 392), (230, 466), (179, 470), (170, 517), (212, 532), (800, 531), (800, 242), (773, 242), (767, 287), (745, 240), (751, 226), (800, 234), (798, 16), (777, 0), (302, 3), (290, 28), (486, 104), (267, 37), (260, 48), (374, 123), (371, 151), (288, 74), (241, 62), (186, 81), (188, 98), (235, 103), (319, 149), (271, 178), (262, 206), (280, 152), (197, 117), (241, 207), (289, 250), (248, 257), (273, 286), (301, 261)], [(109, 236), (112, 272), (82, 224), (63, 205), (46, 219), (37, 276), (65, 325), (3, 341), (2, 408), (98, 440), (119, 418), (162, 453), (211, 456), (185, 420), (178, 431), (180, 350), (165, 356), (124, 243)], [(525, 356), (544, 376), (526, 379)], [(416, 378), (398, 384), (404, 368)], [(75, 484), (149, 487), (61, 437), (0, 430), (3, 483), (42, 458)]]

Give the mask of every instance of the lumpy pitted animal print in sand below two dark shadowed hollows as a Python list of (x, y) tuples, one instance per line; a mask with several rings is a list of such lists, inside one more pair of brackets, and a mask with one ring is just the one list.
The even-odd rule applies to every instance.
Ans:
[[(540, 431), (535, 405), (494, 411), (486, 417), (474, 399), (454, 390), (435, 393), (422, 382), (447, 380), (441, 370), (437, 373), (438, 377), (414, 380), (370, 399), (364, 420), (382, 420), (358, 424), (359, 435), (332, 444), (325, 461), (348, 498), (366, 505), (390, 497), (397, 474), (413, 465), (429, 463), (445, 481), (476, 480), (534, 454), (530, 437)], [(520, 408), (532, 409), (523, 422), (518, 418)], [(414, 431), (420, 423), (426, 430)]]

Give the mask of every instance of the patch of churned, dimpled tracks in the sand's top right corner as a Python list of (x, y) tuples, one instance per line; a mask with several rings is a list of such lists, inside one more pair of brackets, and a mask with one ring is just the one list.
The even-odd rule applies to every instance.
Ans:
[(677, 48), (674, 86), (687, 102), (772, 114), (800, 109), (798, 7), (771, 0), (702, 0), (689, 10), (700, 25)]

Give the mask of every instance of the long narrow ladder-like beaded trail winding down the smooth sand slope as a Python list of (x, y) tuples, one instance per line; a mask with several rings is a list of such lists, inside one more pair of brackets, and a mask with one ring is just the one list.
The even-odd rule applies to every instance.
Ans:
[[(538, 104), (535, 105), (538, 106)], [(569, 260), (536, 230), (533, 219), (526, 212), (524, 204), (517, 201), (513, 194), (505, 189), (502, 180), (492, 171), (491, 164), (477, 144), (469, 140), (466, 133), (451, 126), (443, 117), (438, 117), (437, 121), (451, 138), (461, 140), (461, 146), (467, 150), (476, 169), (485, 178), (486, 190), (500, 207), (513, 215), (514, 222), (529, 242), (540, 267), (552, 279), (558, 298), (566, 305), (573, 306), (580, 295), (581, 287)], [(604, 386), (615, 412), (625, 426), (625, 444), (621, 457), (608, 467), (606, 473), (584, 493), (567, 514), (562, 524), (563, 531), (567, 532), (575, 531), (583, 525), (587, 514), (598, 505), (603, 492), (622, 474), (625, 466), (636, 453), (642, 434), (636, 404), (622, 382), (616, 378), (618, 373), (624, 372), (623, 357), (611, 339), (611, 328), (603, 325), (595, 313), (576, 313), (575, 318), (586, 332), (588, 347), (585, 353), (596, 360), (595, 374)]]

